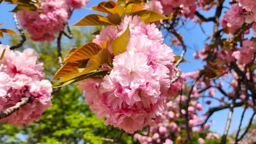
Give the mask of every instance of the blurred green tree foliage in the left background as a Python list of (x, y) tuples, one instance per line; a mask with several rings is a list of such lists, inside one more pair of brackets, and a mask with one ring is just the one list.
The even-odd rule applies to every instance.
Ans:
[[(62, 53), (72, 47), (82, 46), (92, 41), (92, 31), (73, 29), (74, 38), (62, 40)], [(28, 36), (27, 36), (28, 37)], [(17, 44), (18, 36), (12, 36), (10, 44)], [(51, 79), (59, 68), (57, 64), (56, 42), (36, 43), (28, 40), (24, 48), (34, 48), (39, 52), (47, 79)], [(38, 122), (28, 127), (18, 128), (9, 124), (0, 126), (1, 144), (107, 144), (102, 138), (116, 139), (121, 131), (118, 128), (104, 125), (105, 119), (99, 120), (84, 103), (84, 96), (76, 86), (62, 87), (53, 95), (52, 106), (42, 115)], [(119, 143), (130, 144), (130, 134), (124, 133)]]

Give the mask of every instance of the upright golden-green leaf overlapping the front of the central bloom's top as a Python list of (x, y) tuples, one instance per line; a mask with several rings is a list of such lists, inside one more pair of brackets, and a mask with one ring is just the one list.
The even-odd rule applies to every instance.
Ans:
[(112, 41), (111, 48), (114, 56), (127, 51), (126, 47), (129, 44), (130, 37), (131, 37), (131, 32), (129, 27), (130, 27), (130, 24), (128, 24), (126, 30), (121, 36), (117, 37)]

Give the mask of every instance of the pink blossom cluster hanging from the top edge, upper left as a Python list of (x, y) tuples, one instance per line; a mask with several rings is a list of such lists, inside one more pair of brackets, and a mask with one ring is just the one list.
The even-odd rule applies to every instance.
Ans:
[(70, 7), (80, 9), (89, 0), (42, 0), (36, 11), (18, 11), (18, 19), (34, 41), (53, 41), (70, 18)]

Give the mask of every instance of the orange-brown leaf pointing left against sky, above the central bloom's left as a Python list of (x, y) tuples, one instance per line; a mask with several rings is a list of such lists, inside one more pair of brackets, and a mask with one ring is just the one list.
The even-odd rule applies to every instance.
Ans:
[(112, 25), (112, 23), (101, 21), (99, 17), (103, 17), (99, 14), (90, 14), (85, 16), (83, 19), (79, 20), (77, 23), (69, 26), (103, 26), (103, 25)]

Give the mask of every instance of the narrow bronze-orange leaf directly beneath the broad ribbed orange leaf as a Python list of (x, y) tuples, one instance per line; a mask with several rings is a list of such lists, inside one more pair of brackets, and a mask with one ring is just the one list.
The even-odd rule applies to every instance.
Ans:
[(78, 69), (79, 66), (82, 65), (82, 63), (85, 60), (78, 60), (78, 61), (71, 61), (67, 62), (65, 65), (63, 65), (55, 74), (55, 76), (52, 78), (51, 81), (58, 79), (60, 77), (66, 76)]

